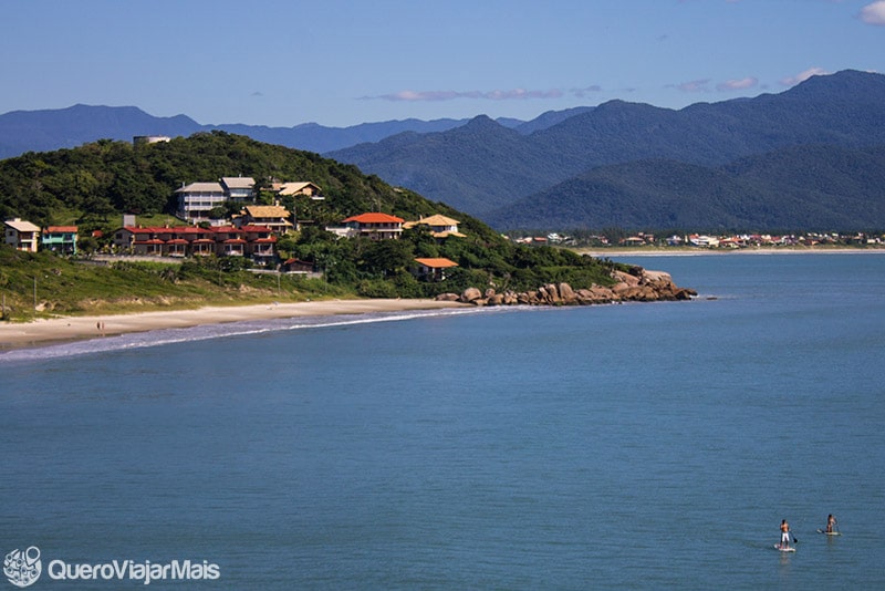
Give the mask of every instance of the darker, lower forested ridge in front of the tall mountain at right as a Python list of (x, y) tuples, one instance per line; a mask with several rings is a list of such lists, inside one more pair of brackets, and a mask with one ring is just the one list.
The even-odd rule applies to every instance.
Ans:
[(885, 228), (885, 145), (798, 146), (723, 166), (649, 159), (596, 167), (483, 220), (533, 230)]

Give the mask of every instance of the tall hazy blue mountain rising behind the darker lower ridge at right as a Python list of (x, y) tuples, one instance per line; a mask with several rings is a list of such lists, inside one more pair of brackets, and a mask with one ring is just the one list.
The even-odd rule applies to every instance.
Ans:
[[(554, 220), (568, 220), (572, 226), (598, 228), (635, 216), (614, 210), (603, 215), (592, 205), (602, 196), (576, 193), (579, 186), (592, 186), (586, 183), (569, 184), (573, 190), (562, 207), (545, 189), (585, 173), (593, 176), (590, 170), (607, 166), (598, 175), (607, 179), (610, 197), (629, 203), (632, 194), (618, 195), (615, 188), (631, 187), (636, 182), (613, 175), (617, 172), (635, 174), (636, 169), (610, 165), (649, 159), (681, 163), (681, 175), (697, 172), (700, 177), (691, 183), (702, 186), (704, 175), (709, 172), (705, 167), (742, 157), (790, 146), (861, 148), (882, 144), (885, 144), (885, 76), (844, 71), (813, 76), (780, 94), (701, 103), (679, 111), (612, 101), (529, 135), (516, 134), (487, 117), (478, 117), (457, 129), (424, 136), (393, 136), (377, 144), (334, 152), (331, 156), (488, 219), (502, 229), (518, 219), (528, 221), (530, 218), (538, 221), (546, 218), (544, 227), (556, 226)], [(647, 166), (648, 163), (641, 165)], [(541, 191), (548, 196), (542, 209), (537, 208), (534, 199), (520, 201)], [(754, 195), (742, 198), (749, 207)], [(583, 199), (589, 203), (575, 210)], [(657, 199), (663, 203), (664, 196)], [(503, 210), (517, 201), (520, 205), (514, 207), (522, 212)], [(767, 205), (759, 205), (762, 210), (750, 218), (768, 220), (763, 212)], [(673, 217), (673, 208), (678, 207), (679, 204), (670, 204), (666, 209), (647, 211), (643, 217), (658, 227), (666, 225)], [(833, 205), (831, 209), (839, 210), (839, 207)], [(579, 214), (581, 210), (586, 214)], [(701, 210), (712, 215), (720, 208), (710, 205)], [(523, 215), (528, 217), (521, 217)], [(730, 219), (704, 217), (699, 221), (710, 227), (730, 225)], [(834, 219), (833, 222), (841, 221)]]

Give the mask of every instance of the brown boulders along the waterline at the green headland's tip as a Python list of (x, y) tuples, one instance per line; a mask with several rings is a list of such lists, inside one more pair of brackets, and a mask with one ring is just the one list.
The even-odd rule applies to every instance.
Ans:
[(697, 296), (693, 289), (680, 288), (673, 282), (669, 273), (647, 271), (632, 267), (627, 271), (612, 272), (615, 283), (612, 287), (593, 286), (589, 289), (572, 289), (569, 283), (548, 283), (537, 290), (497, 292), (489, 288), (485, 292), (468, 288), (459, 296), (442, 293), (437, 300), (459, 301), (473, 305), (590, 305), (616, 302), (655, 302), (690, 300)]

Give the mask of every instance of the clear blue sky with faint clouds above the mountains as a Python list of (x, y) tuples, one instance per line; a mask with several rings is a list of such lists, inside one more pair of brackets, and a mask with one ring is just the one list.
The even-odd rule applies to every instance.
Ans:
[(885, 0), (0, 0), (0, 113), (531, 120), (885, 72)]

